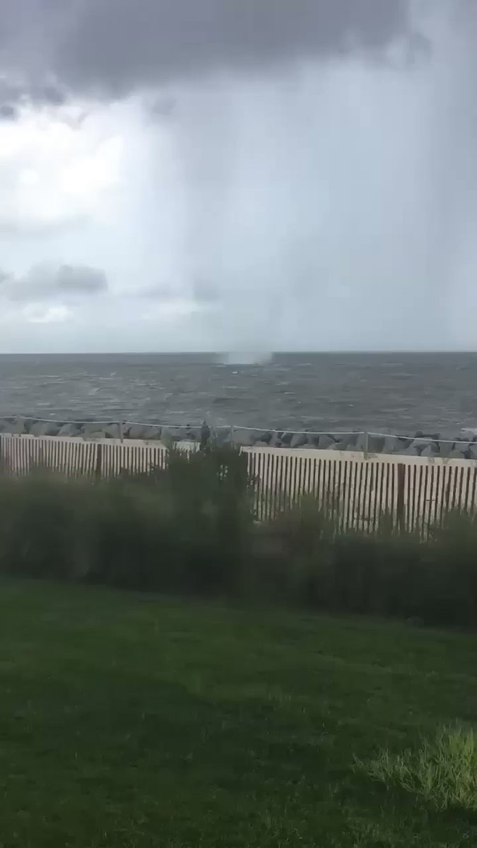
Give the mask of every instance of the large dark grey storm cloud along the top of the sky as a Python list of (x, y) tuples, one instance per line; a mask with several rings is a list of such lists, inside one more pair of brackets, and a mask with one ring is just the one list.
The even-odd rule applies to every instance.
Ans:
[(412, 41), (409, 0), (22, 0), (29, 14), (19, 0), (2, 3), (0, 51), (21, 45), (15, 55), (44, 59), (75, 91), (121, 93)]

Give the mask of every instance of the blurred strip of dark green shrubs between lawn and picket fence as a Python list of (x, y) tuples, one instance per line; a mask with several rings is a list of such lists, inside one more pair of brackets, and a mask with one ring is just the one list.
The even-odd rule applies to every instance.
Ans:
[(244, 455), (171, 449), (135, 477), (0, 477), (0, 570), (477, 624), (476, 516), (448, 515), (425, 541), (386, 516), (373, 535), (339, 519), (306, 498), (259, 525)]

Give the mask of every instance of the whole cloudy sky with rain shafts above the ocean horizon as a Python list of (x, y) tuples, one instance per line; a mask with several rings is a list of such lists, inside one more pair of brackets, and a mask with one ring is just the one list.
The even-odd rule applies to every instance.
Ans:
[(2, 0), (0, 353), (477, 349), (476, 0)]

